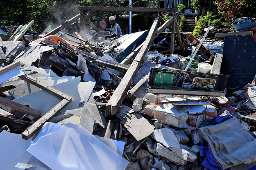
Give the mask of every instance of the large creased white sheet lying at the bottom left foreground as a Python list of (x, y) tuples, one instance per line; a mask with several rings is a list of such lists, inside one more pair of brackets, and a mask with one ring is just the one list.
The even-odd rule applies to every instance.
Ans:
[(27, 151), (52, 170), (125, 170), (129, 163), (80, 125), (65, 123), (54, 132), (49, 126)]

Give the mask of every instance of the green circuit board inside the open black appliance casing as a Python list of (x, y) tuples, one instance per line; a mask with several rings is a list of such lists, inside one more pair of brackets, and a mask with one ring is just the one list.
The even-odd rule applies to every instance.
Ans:
[(170, 73), (156, 73), (155, 76), (155, 86), (172, 86), (174, 74)]

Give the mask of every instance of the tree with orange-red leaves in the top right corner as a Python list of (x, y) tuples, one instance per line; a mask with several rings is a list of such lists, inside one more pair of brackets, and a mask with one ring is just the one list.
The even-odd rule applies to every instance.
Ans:
[(256, 0), (215, 0), (218, 14), (227, 21), (255, 14)]

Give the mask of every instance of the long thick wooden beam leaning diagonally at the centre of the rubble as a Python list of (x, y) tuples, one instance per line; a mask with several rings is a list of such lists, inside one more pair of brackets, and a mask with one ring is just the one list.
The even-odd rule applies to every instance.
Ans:
[(155, 30), (157, 25), (158, 25), (158, 18), (154, 20), (143, 46), (141, 47), (135, 60), (132, 62), (131, 66), (127, 70), (122, 81), (120, 82), (115, 92), (113, 93), (112, 97), (110, 98), (108, 104), (106, 105), (106, 114), (114, 115), (118, 112), (118, 109), (121, 106), (122, 102), (124, 101), (126, 94), (129, 90), (129, 87), (131, 86), (131, 83), (134, 81), (134, 77), (136, 76), (136, 73), (140, 69), (141, 62), (143, 62), (143, 59), (147, 53), (147, 50), (150, 47), (150, 43), (155, 38), (155, 34), (156, 34)]

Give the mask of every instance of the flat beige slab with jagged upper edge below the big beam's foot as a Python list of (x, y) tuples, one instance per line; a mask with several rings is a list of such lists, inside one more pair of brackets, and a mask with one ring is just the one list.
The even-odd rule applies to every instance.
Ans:
[(131, 110), (130, 107), (122, 105), (116, 116), (135, 139), (140, 141), (154, 132), (154, 126), (138, 113), (127, 114)]

